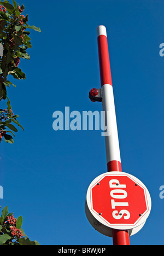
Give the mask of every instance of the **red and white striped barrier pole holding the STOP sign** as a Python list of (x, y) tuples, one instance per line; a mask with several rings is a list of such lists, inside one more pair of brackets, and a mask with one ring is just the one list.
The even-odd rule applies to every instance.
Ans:
[[(108, 42), (106, 27), (97, 27), (97, 42), (99, 56), (99, 71), (102, 88), (103, 111), (106, 113), (107, 132), (104, 133), (106, 140), (106, 155), (108, 172), (121, 172), (121, 158), (119, 148), (118, 129), (116, 124), (112, 77), (110, 72)], [(127, 230), (113, 229), (114, 245), (130, 245)]]

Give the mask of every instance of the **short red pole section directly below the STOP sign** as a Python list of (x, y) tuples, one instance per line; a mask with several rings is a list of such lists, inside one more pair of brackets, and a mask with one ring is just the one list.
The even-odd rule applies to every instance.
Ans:
[(130, 245), (128, 231), (113, 229), (113, 245)]

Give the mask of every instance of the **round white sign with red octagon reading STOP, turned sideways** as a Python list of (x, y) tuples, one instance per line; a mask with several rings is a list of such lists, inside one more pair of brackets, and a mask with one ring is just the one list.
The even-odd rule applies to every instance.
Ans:
[(138, 231), (149, 216), (151, 199), (148, 189), (136, 177), (107, 172), (90, 184), (86, 205), (98, 223), (110, 229)]

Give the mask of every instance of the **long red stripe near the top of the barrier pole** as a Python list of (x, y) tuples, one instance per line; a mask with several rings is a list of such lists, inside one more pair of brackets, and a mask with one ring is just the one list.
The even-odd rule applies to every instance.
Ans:
[(104, 84), (112, 85), (107, 37), (101, 34), (101, 36), (97, 38), (97, 42), (101, 86), (103, 86)]

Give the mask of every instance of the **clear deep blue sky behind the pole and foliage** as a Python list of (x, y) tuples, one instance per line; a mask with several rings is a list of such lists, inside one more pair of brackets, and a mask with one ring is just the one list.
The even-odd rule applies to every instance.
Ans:
[[(162, 0), (55, 0), (22, 2), (32, 31), (31, 60), (21, 60), (26, 80), (8, 95), (19, 129), (14, 144), (1, 143), (1, 184), (22, 228), (42, 245), (112, 245), (85, 216), (86, 191), (107, 172), (101, 131), (54, 131), (56, 110), (102, 110), (91, 102), (100, 87), (96, 27), (107, 28), (122, 170), (148, 188), (152, 210), (131, 245), (163, 245), (164, 3)], [(21, 5), (21, 2), (20, 2)], [(2, 103), (4, 105), (4, 102)]]

